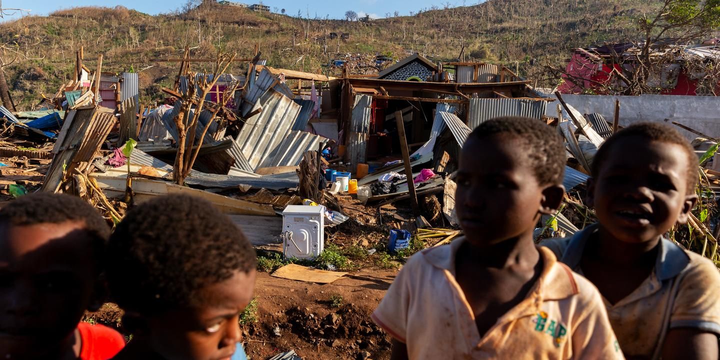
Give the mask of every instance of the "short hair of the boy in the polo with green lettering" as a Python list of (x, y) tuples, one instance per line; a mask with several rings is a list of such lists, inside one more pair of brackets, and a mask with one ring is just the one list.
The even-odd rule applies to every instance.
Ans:
[(500, 134), (512, 135), (528, 145), (527, 148), (518, 149), (518, 152), (527, 154), (528, 166), (533, 168), (538, 184), (562, 184), (567, 157), (557, 131), (539, 119), (495, 117), (472, 130), (468, 140)]

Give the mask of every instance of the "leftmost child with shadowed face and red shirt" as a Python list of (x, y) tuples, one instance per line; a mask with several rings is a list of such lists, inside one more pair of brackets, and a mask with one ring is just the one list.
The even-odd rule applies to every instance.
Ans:
[(106, 360), (117, 331), (81, 322), (107, 293), (110, 228), (79, 197), (37, 193), (0, 210), (0, 359)]

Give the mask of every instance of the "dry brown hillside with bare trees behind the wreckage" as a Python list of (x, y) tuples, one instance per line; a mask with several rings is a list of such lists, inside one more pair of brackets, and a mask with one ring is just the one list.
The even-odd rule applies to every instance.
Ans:
[[(104, 53), (103, 71), (140, 71), (145, 103), (159, 99), (159, 89), (171, 86), (177, 71), (176, 63), (150, 59), (180, 57), (186, 45), (195, 57), (212, 57), (217, 50), (248, 57), (258, 45), (271, 66), (334, 75), (338, 69), (321, 64), (348, 54), (363, 60), (376, 54), (397, 59), (420, 52), (433, 60), (457, 60), (464, 48), (465, 60), (504, 63), (547, 84), (539, 76), (546, 61), (562, 63), (577, 46), (632, 38), (631, 19), (650, 10), (648, 2), (636, 0), (490, 0), (364, 23), (259, 14), (211, 0), (158, 16), (122, 6), (66, 9), (48, 17), (4, 22), (0, 39), (17, 42), (30, 58), (12, 61), (12, 53), (4, 55), (13, 99), (19, 108), (30, 109), (41, 93), (53, 94), (72, 76), (80, 46), (89, 67)], [(350, 37), (330, 39), (330, 32)], [(241, 66), (233, 71), (242, 71)]]

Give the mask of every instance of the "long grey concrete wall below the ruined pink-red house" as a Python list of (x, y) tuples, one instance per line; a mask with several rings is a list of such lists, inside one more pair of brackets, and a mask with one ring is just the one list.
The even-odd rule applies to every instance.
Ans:
[[(679, 95), (642, 95), (642, 96), (602, 96), (563, 94), (567, 104), (582, 114), (598, 112), (606, 120), (613, 121), (615, 100), (620, 100), (620, 125), (634, 122), (680, 122), (699, 132), (714, 138), (720, 138), (720, 96), (679, 96)], [(548, 104), (546, 115), (557, 117), (559, 102)], [(672, 125), (675, 126), (675, 125)], [(676, 127), (689, 140), (698, 135)]]

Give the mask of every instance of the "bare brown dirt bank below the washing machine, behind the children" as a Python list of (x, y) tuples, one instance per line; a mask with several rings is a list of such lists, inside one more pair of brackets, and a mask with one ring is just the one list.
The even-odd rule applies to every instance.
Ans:
[[(302, 359), (390, 359), (390, 336), (370, 319), (396, 270), (363, 269), (330, 284), (280, 279), (258, 272), (255, 321), (243, 343), (252, 360), (294, 350)], [(84, 320), (122, 332), (122, 310), (105, 304)]]

